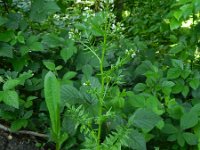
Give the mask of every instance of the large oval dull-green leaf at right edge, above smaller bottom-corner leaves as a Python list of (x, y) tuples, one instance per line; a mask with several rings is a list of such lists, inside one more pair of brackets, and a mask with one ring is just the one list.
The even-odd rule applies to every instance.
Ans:
[(180, 120), (180, 127), (185, 130), (194, 127), (198, 123), (198, 114), (194, 111), (183, 114)]

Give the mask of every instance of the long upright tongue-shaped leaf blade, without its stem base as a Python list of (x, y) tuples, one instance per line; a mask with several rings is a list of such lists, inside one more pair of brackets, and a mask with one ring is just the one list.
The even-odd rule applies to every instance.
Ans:
[(45, 102), (50, 114), (53, 134), (60, 136), (60, 85), (56, 76), (49, 71), (44, 79)]

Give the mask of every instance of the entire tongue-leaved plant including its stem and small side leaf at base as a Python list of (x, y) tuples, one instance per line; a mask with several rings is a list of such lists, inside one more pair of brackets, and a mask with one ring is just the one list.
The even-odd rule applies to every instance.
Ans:
[(68, 135), (66, 133), (61, 133), (60, 86), (52, 72), (48, 72), (45, 76), (44, 93), (51, 120), (51, 137), (56, 143), (56, 150), (60, 150), (62, 143), (67, 139)]

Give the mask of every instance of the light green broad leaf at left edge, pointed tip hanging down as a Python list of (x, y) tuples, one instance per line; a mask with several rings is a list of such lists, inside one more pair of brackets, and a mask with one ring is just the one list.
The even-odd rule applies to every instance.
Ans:
[(19, 97), (16, 91), (6, 90), (3, 92), (3, 102), (14, 108), (19, 108)]

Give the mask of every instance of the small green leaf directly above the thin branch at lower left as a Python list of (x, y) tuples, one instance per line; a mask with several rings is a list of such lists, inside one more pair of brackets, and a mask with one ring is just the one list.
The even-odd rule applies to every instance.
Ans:
[(18, 119), (11, 123), (11, 131), (16, 132), (22, 127), (26, 127), (28, 124), (28, 120), (26, 119)]

